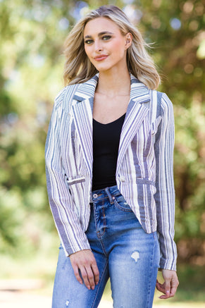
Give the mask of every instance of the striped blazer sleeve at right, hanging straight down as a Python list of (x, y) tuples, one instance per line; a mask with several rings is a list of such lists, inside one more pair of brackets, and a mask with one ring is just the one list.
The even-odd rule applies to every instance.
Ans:
[(161, 123), (156, 133), (156, 216), (161, 269), (176, 270), (177, 250), (174, 242), (175, 188), (173, 181), (174, 116), (173, 105), (162, 94)]

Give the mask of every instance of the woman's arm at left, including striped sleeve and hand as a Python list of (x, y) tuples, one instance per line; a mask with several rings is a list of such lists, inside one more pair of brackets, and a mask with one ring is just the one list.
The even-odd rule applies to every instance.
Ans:
[(47, 190), (61, 244), (66, 255), (70, 257), (75, 277), (80, 283), (83, 279), (88, 289), (94, 289), (94, 285), (99, 282), (99, 270), (94, 254), (90, 250), (87, 236), (75, 214), (73, 200), (65, 183), (61, 160), (61, 128), (65, 128), (66, 123), (64, 122), (66, 115), (61, 104), (65, 89), (56, 98), (46, 138)]

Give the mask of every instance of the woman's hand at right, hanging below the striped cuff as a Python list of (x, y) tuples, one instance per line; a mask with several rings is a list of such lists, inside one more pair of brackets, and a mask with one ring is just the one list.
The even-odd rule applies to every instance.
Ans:
[(166, 300), (169, 297), (175, 296), (175, 292), (178, 288), (179, 281), (178, 276), (175, 271), (170, 271), (169, 269), (162, 269), (162, 276), (164, 283), (161, 284), (156, 280), (156, 288), (165, 295), (161, 295), (161, 299)]

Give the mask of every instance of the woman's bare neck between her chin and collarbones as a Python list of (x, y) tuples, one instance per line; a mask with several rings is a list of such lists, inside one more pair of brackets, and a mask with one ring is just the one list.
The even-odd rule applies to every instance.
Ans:
[(97, 93), (106, 94), (108, 97), (130, 94), (130, 73), (119, 72), (99, 72), (99, 82)]

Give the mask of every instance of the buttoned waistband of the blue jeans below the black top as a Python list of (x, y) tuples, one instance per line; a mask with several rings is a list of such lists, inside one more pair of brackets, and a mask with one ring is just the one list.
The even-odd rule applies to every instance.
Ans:
[(101, 199), (108, 198), (111, 204), (114, 203), (115, 196), (121, 195), (120, 191), (118, 190), (118, 186), (111, 186), (106, 187), (102, 190), (94, 190), (94, 192), (91, 193), (91, 203), (99, 201)]

